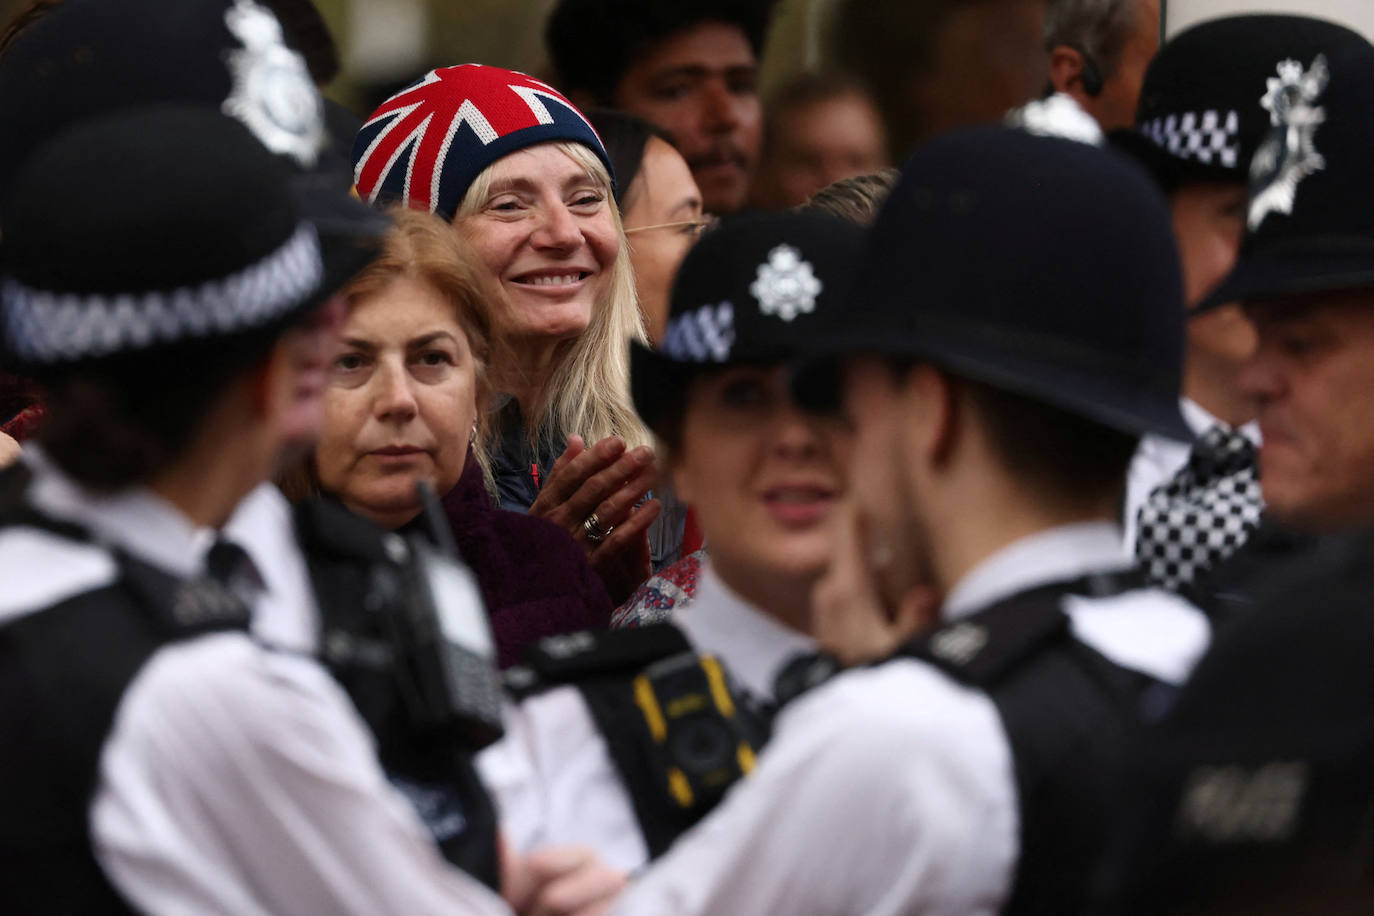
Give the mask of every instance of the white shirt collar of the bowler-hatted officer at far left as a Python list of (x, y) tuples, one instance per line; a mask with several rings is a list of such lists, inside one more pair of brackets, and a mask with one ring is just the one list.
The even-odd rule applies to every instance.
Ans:
[(37, 445), (25, 444), (23, 461), (33, 472), (27, 500), (36, 509), (74, 522), (98, 540), (173, 575), (201, 573), (214, 531), (192, 525), (153, 490), (131, 486), (110, 494), (92, 493), (63, 474)]

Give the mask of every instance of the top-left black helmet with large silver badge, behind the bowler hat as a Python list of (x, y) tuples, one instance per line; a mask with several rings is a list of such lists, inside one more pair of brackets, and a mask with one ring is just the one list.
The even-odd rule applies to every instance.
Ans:
[(155, 104), (243, 122), (289, 163), (297, 206), (326, 244), (386, 232), (349, 195), (348, 163), (327, 154), (323, 100), (267, 0), (63, 0), (43, 14), (0, 58), (0, 201), (44, 141)]

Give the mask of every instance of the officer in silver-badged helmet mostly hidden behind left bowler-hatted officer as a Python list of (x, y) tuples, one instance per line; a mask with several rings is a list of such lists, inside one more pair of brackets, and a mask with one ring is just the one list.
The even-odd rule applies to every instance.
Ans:
[[(322, 154), (319, 92), (272, 10), (257, 0), (174, 7), (66, 0), (33, 19), (0, 58), (0, 121), (7, 125), (0, 198), (16, 187), (16, 170), (34, 148), (63, 128), (158, 103), (224, 111), (239, 121), (287, 169), (293, 198), (326, 244), (371, 250), (368, 239), (386, 229), (385, 218), (346, 195), (346, 163), (331, 166)], [(110, 162), (111, 170), (121, 165)], [(300, 404), (284, 416), (283, 438), (293, 453), (313, 445), (327, 354), (305, 358), (312, 372), (301, 376)], [(404, 615), (414, 595), (374, 585), (412, 577), (382, 533), (337, 504), (315, 503), (293, 514), (265, 482), (239, 503), (220, 540), (218, 563), (232, 567), (242, 563), (235, 553), (246, 553), (253, 577), (265, 585), (250, 596), (253, 634), (276, 650), (322, 656), (378, 740), (387, 776), (445, 856), (495, 886), (495, 814), (467, 761), (489, 733), (481, 740), (470, 731), (440, 733), (425, 724), (423, 705), (404, 699), (416, 695), (405, 669), (437, 659), (393, 644), (387, 615)], [(474, 683), (489, 677), (489, 666), (467, 661)], [(480, 698), (481, 691), (469, 694)], [(499, 721), (499, 696), (489, 699), (488, 713)], [(459, 737), (455, 747), (451, 739)]]

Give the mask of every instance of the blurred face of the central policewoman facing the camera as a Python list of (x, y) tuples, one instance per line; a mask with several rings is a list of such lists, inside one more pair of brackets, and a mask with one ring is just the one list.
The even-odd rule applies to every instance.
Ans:
[(732, 367), (691, 382), (673, 483), (727, 582), (824, 571), (848, 461), (831, 426), (791, 401), (785, 367)]

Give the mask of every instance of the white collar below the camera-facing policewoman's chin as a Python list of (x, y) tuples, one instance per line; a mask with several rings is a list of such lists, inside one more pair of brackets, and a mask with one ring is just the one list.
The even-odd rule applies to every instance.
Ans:
[(772, 699), (774, 678), (793, 655), (816, 651), (809, 636), (732, 592), (709, 562), (702, 564), (697, 596), (673, 622), (698, 651), (717, 655), (735, 680), (760, 699)]

